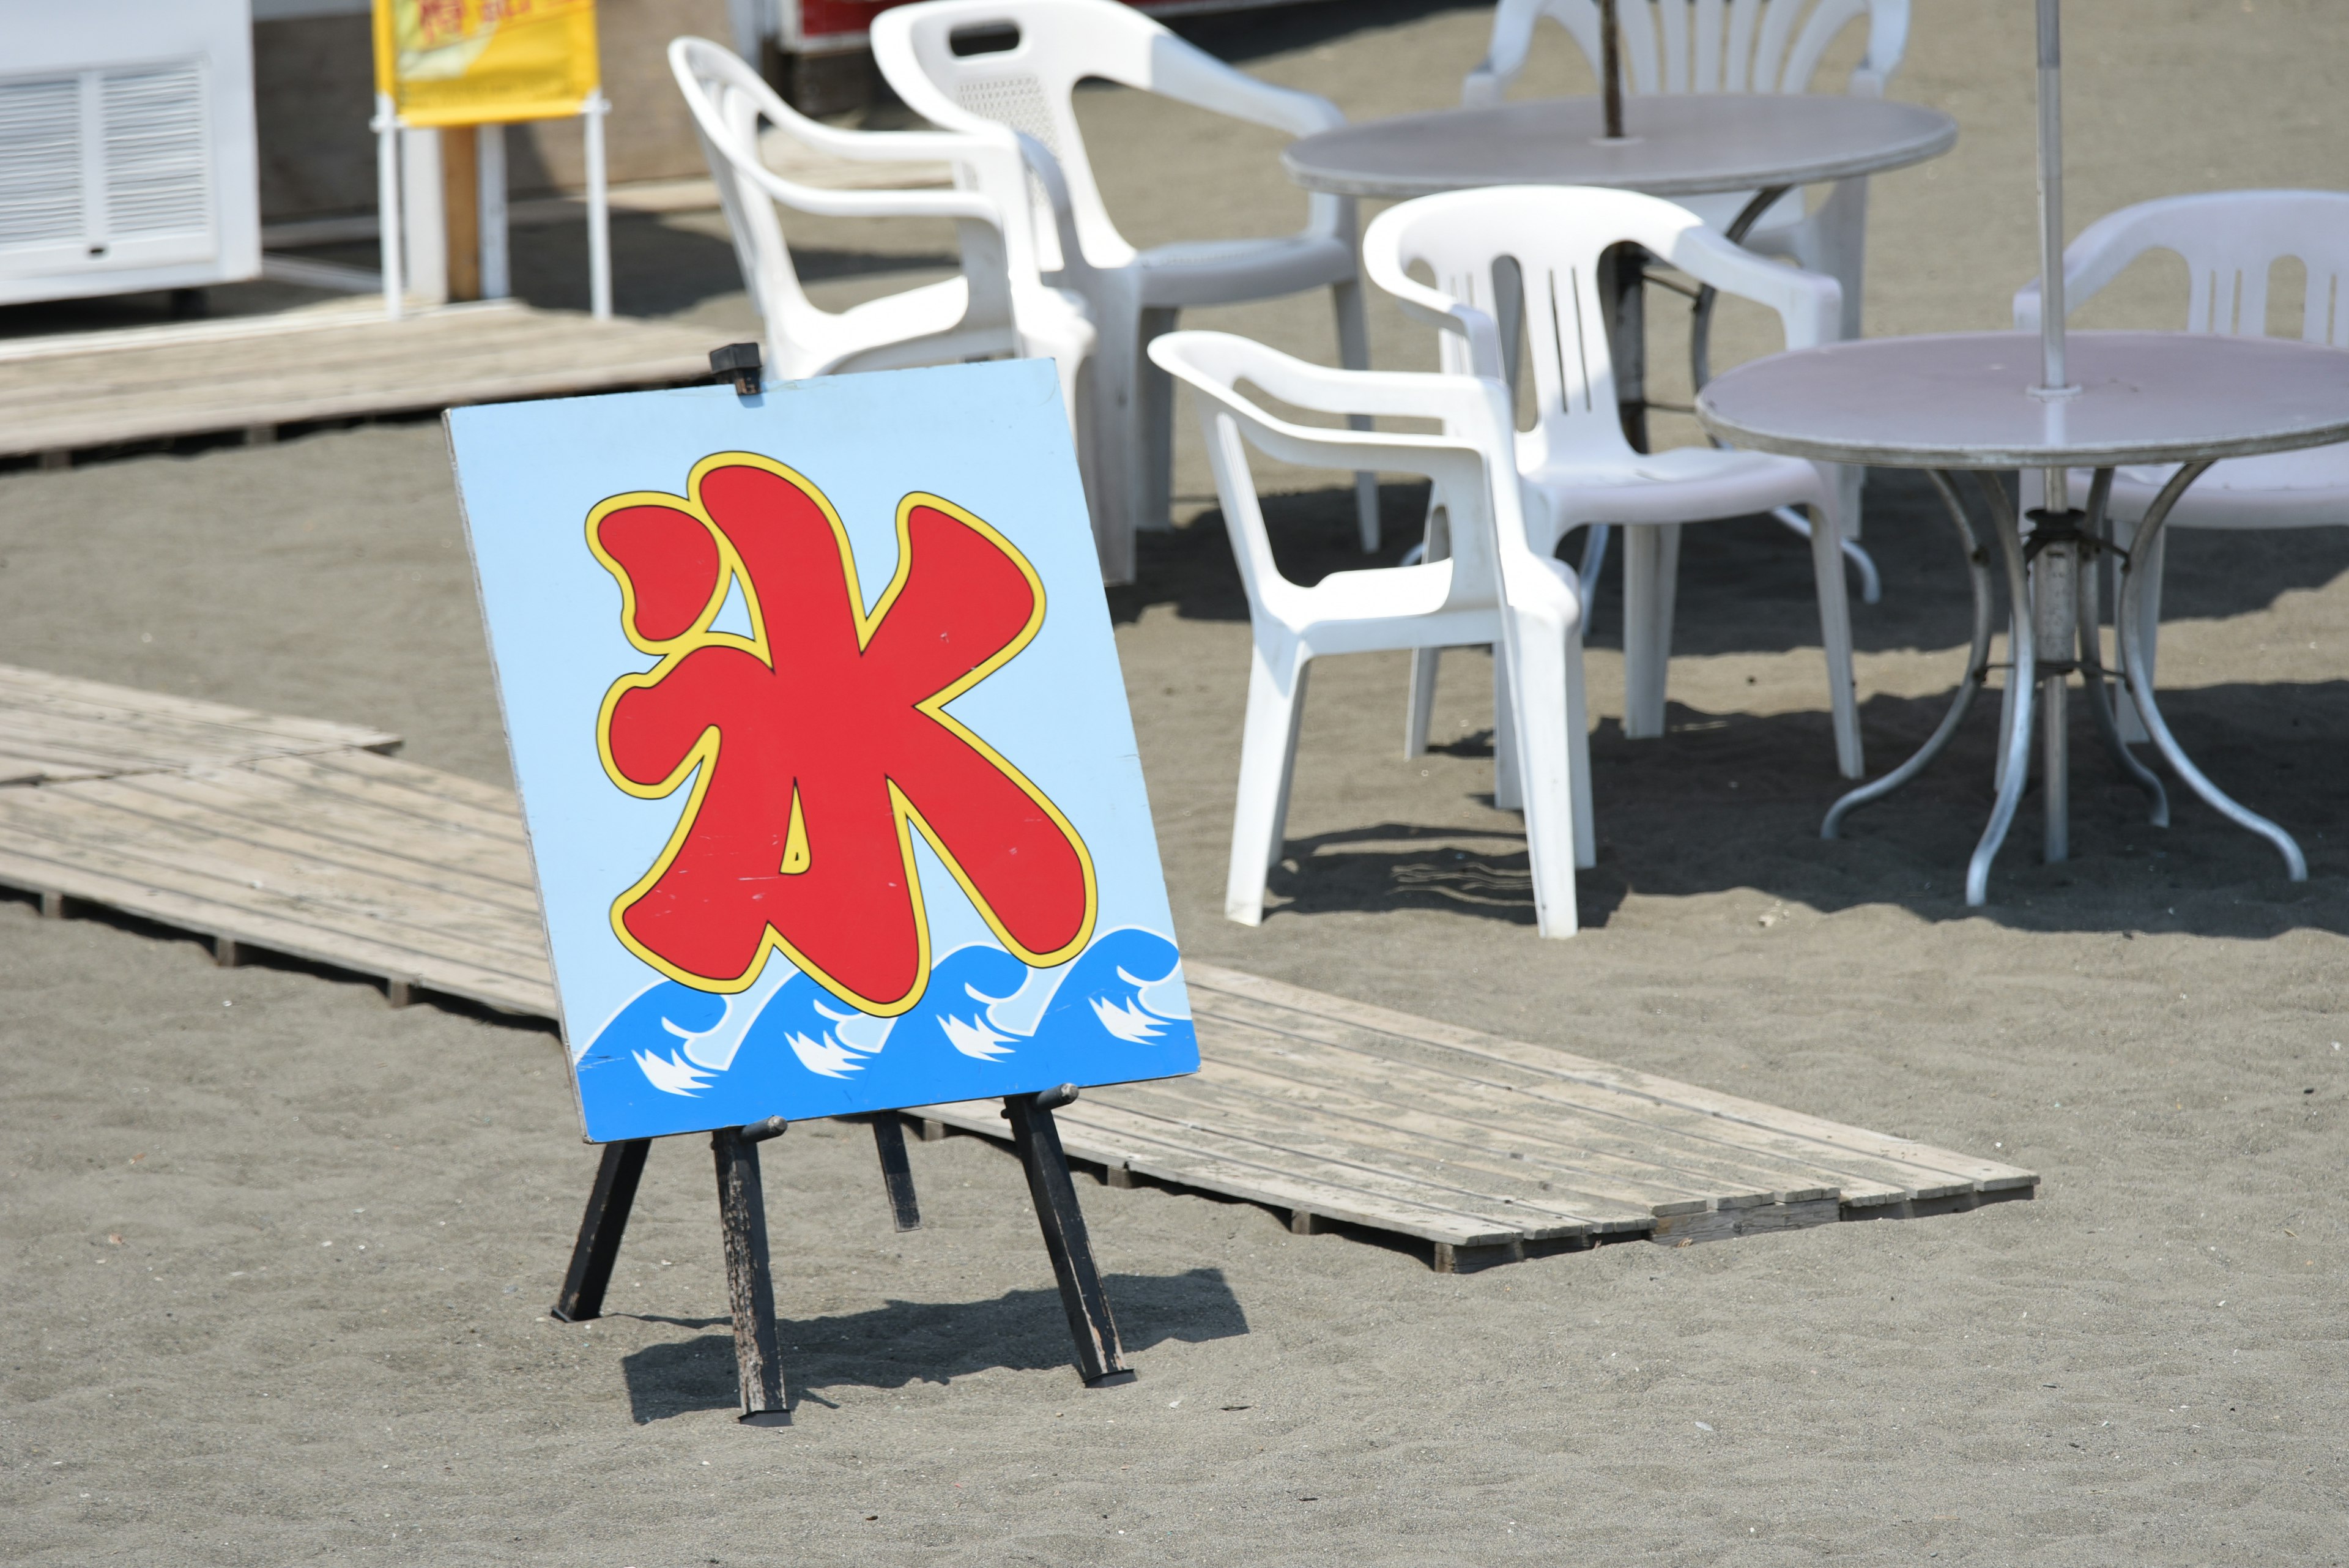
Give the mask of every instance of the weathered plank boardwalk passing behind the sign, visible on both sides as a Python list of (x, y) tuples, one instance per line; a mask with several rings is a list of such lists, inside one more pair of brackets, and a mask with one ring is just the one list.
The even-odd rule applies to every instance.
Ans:
[[(507, 790), (376, 755), (392, 736), (0, 670), (0, 886), (554, 1018)], [(19, 766), (28, 764), (28, 766)], [(33, 783), (40, 780), (40, 783)], [(1438, 1269), (1717, 1241), (2027, 1199), (2015, 1166), (1548, 1046), (1186, 961), (1203, 1067), (1088, 1088), (1073, 1159), (1264, 1204)], [(1008, 1140), (1001, 1103), (907, 1112)]]

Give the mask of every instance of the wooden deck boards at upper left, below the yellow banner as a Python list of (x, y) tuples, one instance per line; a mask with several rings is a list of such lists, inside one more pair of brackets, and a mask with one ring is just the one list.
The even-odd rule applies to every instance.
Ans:
[(517, 301), (381, 301), (0, 343), (0, 458), (709, 378), (721, 334)]

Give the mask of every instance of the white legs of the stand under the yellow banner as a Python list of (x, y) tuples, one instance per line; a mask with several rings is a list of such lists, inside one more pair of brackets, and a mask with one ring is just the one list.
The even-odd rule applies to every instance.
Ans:
[[(587, 308), (611, 320), (611, 197), (604, 165), (604, 115), (611, 99), (597, 87), (580, 103), (587, 172)], [(442, 169), (435, 132), (402, 125), (388, 94), (376, 94), (376, 209), (383, 230), (383, 315), (399, 320), (409, 287), (439, 303), (449, 294)], [(512, 249), (505, 221), (505, 122), (477, 125), (477, 195), (482, 214), (482, 299), (512, 294)]]

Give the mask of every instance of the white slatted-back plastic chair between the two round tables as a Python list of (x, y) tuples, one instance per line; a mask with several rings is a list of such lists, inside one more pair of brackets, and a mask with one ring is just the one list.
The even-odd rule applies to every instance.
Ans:
[[(1811, 508), (1811, 567), (1818, 630), (1828, 651), (1835, 764), (1860, 776), (1860, 712), (1851, 686), (1851, 609), (1844, 597), (1842, 491), (1832, 463), (1764, 451), (1675, 447), (1633, 451), (1616, 416), (1607, 317), (1595, 287), (1600, 254), (1635, 242), (1712, 284), (1778, 313), (1788, 348), (1835, 339), (1837, 284), (1762, 261), (1687, 207), (1633, 190), (1579, 186), (1496, 186), (1454, 190), (1388, 207), (1362, 235), (1372, 282), (1409, 315), (1445, 329), (1442, 364), (1501, 376), (1492, 327), (1496, 263), (1515, 261), (1534, 364), (1534, 428), (1517, 433), (1532, 548), (1548, 557), (1583, 524), (1630, 524), (1623, 548), (1623, 733), (1663, 733), (1665, 670), (1672, 654), (1672, 590), (1680, 527), (1745, 517), (1778, 505)], [(1435, 287), (1409, 277), (1426, 266)], [(1426, 745), (1435, 654), (1412, 663), (1412, 733)]]

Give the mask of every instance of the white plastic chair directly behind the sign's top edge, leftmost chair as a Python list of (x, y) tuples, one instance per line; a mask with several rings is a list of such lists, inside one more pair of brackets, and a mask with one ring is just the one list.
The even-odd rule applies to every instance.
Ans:
[[(1029, 174), (1010, 129), (843, 132), (817, 125), (775, 96), (733, 49), (707, 38), (672, 40), (669, 73), (693, 110), (742, 282), (766, 324), (770, 383), (961, 360), (1050, 357), (1059, 367), (1069, 418), (1081, 418), (1081, 367), (1095, 331), (1081, 299), (1038, 280)], [(956, 188), (832, 190), (794, 183), (759, 158), (761, 120), (834, 158), (951, 162)], [(822, 216), (954, 219), (963, 275), (848, 310), (822, 310), (799, 287), (778, 205)]]

